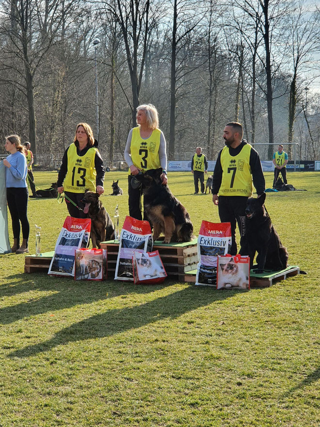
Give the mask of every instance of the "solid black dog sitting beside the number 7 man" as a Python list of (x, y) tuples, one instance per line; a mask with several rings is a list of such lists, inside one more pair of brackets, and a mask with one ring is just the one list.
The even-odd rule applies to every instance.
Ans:
[(258, 198), (249, 197), (245, 210), (247, 215), (245, 241), (248, 245), (250, 268), (253, 267), (257, 252), (255, 273), (263, 273), (265, 268), (279, 271), (288, 267), (288, 251), (282, 245), (264, 208), (265, 199), (265, 193)]

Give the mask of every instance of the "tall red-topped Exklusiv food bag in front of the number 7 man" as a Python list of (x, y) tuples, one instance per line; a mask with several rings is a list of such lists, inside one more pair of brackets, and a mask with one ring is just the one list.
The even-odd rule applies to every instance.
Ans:
[(231, 247), (231, 224), (202, 221), (198, 236), (196, 285), (215, 286), (217, 257), (226, 255)]

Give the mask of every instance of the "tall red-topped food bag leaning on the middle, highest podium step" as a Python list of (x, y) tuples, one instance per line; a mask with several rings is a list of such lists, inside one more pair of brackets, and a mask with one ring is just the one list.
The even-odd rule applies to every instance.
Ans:
[(133, 281), (132, 257), (135, 249), (151, 252), (152, 246), (153, 239), (149, 222), (126, 216), (120, 233), (114, 279)]

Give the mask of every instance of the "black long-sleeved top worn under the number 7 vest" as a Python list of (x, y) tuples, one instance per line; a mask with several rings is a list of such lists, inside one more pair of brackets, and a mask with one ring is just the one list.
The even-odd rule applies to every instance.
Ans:
[[(237, 148), (229, 147), (230, 156), (233, 156), (233, 157), (237, 156), (245, 144), (247, 144), (247, 141), (242, 139), (241, 144)], [(222, 181), (223, 169), (222, 169), (221, 161), (220, 161), (221, 152), (222, 152), (222, 150), (218, 154), (217, 162), (216, 162), (216, 165), (214, 167), (212, 194), (218, 194), (219, 193), (219, 189), (220, 189), (220, 185), (221, 185), (221, 181)], [(266, 182), (264, 179), (259, 154), (256, 152), (256, 150), (254, 148), (251, 148), (251, 151), (250, 151), (249, 164), (250, 164), (250, 168), (251, 168), (253, 184), (254, 184), (254, 187), (256, 188), (256, 193), (259, 196), (266, 189)]]

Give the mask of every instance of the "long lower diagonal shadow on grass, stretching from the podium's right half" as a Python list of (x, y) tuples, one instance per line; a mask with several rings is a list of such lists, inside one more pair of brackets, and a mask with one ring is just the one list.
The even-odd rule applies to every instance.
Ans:
[(162, 296), (135, 307), (108, 310), (88, 319), (61, 329), (55, 336), (43, 343), (30, 345), (11, 352), (8, 357), (30, 357), (48, 351), (57, 345), (69, 342), (104, 338), (130, 329), (141, 328), (163, 319), (175, 319), (186, 312), (207, 306), (218, 300), (234, 296), (237, 291), (215, 292), (210, 288), (189, 286), (173, 294)]

